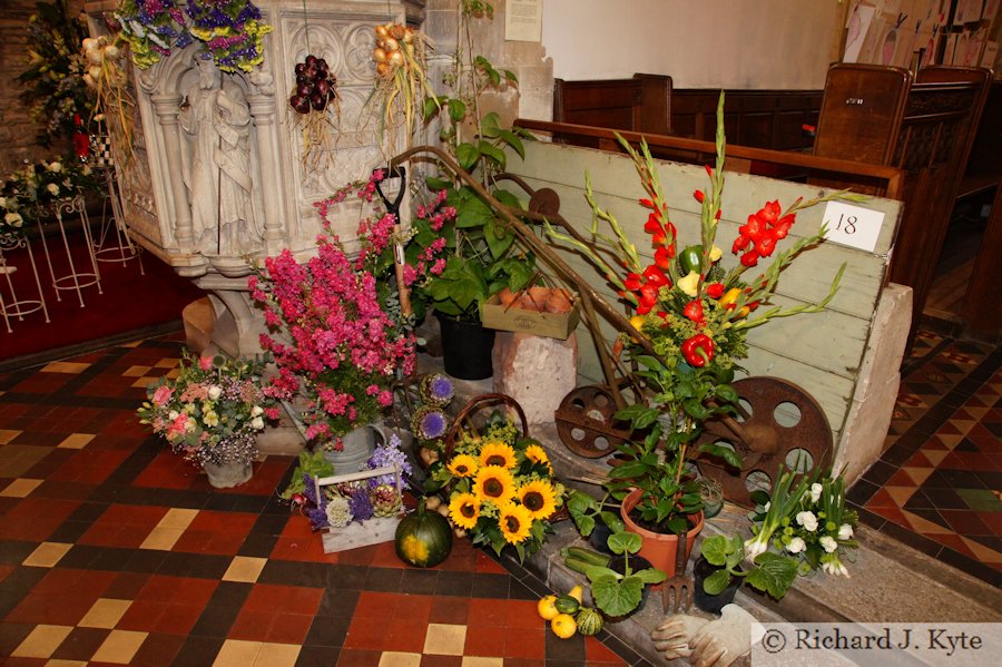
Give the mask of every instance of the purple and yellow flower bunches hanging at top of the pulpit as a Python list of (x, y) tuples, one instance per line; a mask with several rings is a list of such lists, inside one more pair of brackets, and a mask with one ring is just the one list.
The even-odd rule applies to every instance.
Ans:
[(249, 0), (121, 0), (114, 18), (140, 69), (199, 41), (220, 70), (249, 72), (272, 31)]

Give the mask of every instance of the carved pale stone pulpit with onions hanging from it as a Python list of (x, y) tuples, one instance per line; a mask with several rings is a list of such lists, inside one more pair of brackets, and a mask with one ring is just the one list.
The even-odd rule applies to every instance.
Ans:
[[(214, 342), (232, 355), (259, 351), (262, 321), (247, 294), (253, 264), (284, 248), (305, 259), (321, 232), (313, 203), (364, 178), (389, 157), (367, 104), (373, 27), (420, 24), (425, 2), (256, 4), (273, 31), (264, 40), (264, 62), (249, 73), (223, 72), (198, 58), (198, 42), (145, 70), (127, 63), (135, 140), (117, 165), (132, 237), (210, 294)], [(107, 33), (104, 13), (116, 6), (86, 3), (91, 33)], [(288, 105), (294, 66), (311, 52), (330, 65), (340, 98), (340, 114), (330, 115), (335, 140), (320, 168), (303, 159), (303, 139)], [(336, 216), (334, 232), (351, 247), (357, 210), (346, 202)]]

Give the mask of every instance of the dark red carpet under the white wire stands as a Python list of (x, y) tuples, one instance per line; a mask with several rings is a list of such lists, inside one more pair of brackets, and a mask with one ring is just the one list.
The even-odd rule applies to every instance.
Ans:
[[(90, 259), (82, 233), (70, 234), (68, 238), (77, 271), (89, 272)], [(56, 277), (67, 275), (69, 262), (62, 239), (50, 236), (47, 241)], [(31, 244), (50, 322), (46, 322), (41, 311), (24, 315), (23, 321), (11, 316), (10, 327), (13, 332), (8, 333), (0, 318), (0, 361), (26, 355), (35, 357), (49, 351), (55, 353), (59, 349), (157, 325), (177, 323), (179, 327), (184, 307), (205, 295), (167, 264), (149, 253), (143, 253), (145, 275), (140, 273), (138, 259), (130, 259), (125, 265), (121, 262), (98, 262), (101, 292), (98, 292), (97, 285), (84, 287), (81, 292), (85, 307), (80, 307), (73, 290), (60, 290), (61, 301), (57, 300), (41, 242), (32, 239)], [(3, 256), (8, 266), (18, 268), (10, 276), (18, 298), (38, 298), (27, 252), (4, 252)], [(9, 304), (11, 294), (7, 278), (8, 276), (0, 275), (0, 294), (3, 295), (4, 303)]]

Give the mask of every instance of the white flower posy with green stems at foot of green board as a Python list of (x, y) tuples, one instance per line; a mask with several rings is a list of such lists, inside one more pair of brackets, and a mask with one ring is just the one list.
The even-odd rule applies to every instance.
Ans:
[(848, 577), (843, 558), (858, 547), (853, 539), (858, 516), (845, 507), (845, 479), (814, 472), (794, 481), (786, 471), (770, 493), (753, 493), (754, 537), (745, 542), (745, 557), (754, 561), (772, 548), (794, 559), (800, 575), (821, 569)]

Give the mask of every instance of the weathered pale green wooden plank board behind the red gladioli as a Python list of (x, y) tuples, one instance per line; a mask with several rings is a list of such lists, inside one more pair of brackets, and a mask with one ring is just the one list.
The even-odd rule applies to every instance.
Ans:
[[(679, 163), (658, 160), (658, 165), (671, 220), (678, 228), (679, 245), (697, 243), (699, 204), (692, 193), (709, 186), (706, 171), (703, 167)], [(510, 159), (509, 170), (536, 189), (549, 187), (556, 190), (560, 196), (561, 215), (586, 236), (592, 218), (591, 208), (584, 199), (587, 174), (599, 205), (616, 216), (640, 254), (650, 256), (649, 237), (644, 233), (647, 210), (637, 203), (645, 193), (627, 156), (539, 141), (527, 144), (524, 160), (518, 157)], [(510, 186), (510, 189), (521, 195), (517, 186)], [(829, 192), (816, 186), (728, 173), (723, 218), (717, 233), (717, 245), (724, 251), (725, 267), (737, 262), (730, 253), (737, 227), (766, 202), (778, 199), (786, 208), (798, 197), (811, 199)], [(784, 272), (774, 303), (786, 306), (824, 298), (838, 267), (846, 264), (838, 294), (824, 313), (776, 320), (752, 330), (748, 336), (750, 353), (741, 362), (750, 375), (777, 376), (804, 388), (825, 411), (836, 443), (855, 392), (857, 369), (866, 351), (872, 318), (886, 281), (891, 247), (901, 216), (901, 203), (892, 199), (872, 198), (854, 205), (884, 214), (873, 252), (824, 243), (802, 254)], [(797, 223), (789, 236), (780, 242), (779, 249), (788, 247), (796, 238), (813, 235), (824, 222), (824, 210), (825, 205), (822, 204), (798, 213)], [(609, 232), (605, 223), (600, 223), (600, 229)], [(607, 301), (619, 303), (605, 278), (589, 262), (572, 251), (560, 251), (560, 255)], [(767, 264), (760, 266), (764, 271)], [(755, 275), (746, 274), (748, 282)], [(583, 322), (579, 330), (580, 383), (601, 382), (601, 366)], [(616, 330), (602, 323), (602, 335), (606, 340), (612, 340)]]

